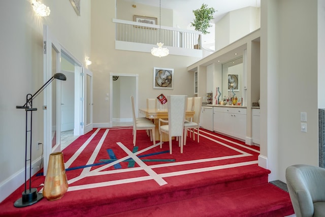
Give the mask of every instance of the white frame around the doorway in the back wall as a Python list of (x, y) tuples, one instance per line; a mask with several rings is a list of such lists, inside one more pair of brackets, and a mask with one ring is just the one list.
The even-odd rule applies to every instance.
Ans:
[[(113, 127), (113, 76), (126, 76), (126, 77), (135, 77), (136, 78), (136, 92), (135, 92), (135, 110), (138, 111), (138, 92), (139, 92), (139, 74), (121, 74), (121, 73), (110, 73), (110, 95), (109, 95), (109, 101), (110, 101), (110, 122), (109, 126)], [(130, 96), (127, 96), (130, 97)], [(138, 112), (136, 112), (138, 114)]]

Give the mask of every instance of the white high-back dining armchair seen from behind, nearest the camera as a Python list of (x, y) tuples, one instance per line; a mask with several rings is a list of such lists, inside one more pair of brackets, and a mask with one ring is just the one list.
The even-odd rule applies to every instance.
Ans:
[[(160, 148), (163, 147), (162, 134), (169, 136), (169, 153), (172, 154), (172, 137), (178, 137), (178, 146), (180, 146), (181, 153), (183, 153), (183, 131), (184, 118), (186, 110), (186, 96), (185, 95), (171, 95), (167, 96), (168, 100), (168, 120), (159, 118), (159, 133), (160, 133)], [(167, 123), (161, 125), (161, 123)]]

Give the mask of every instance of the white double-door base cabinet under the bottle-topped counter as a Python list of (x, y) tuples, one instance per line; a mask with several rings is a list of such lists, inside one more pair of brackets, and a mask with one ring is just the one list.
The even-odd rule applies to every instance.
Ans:
[(245, 140), (246, 108), (214, 107), (213, 130)]

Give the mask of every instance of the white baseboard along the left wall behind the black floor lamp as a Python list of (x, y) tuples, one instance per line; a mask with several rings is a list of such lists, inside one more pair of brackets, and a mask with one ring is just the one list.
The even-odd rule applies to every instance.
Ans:
[[(42, 157), (39, 157), (34, 162), (31, 163), (31, 176), (35, 175), (40, 171), (40, 164)], [(29, 177), (29, 164), (27, 166), (27, 177)], [(7, 178), (5, 181), (0, 183), (0, 202), (5, 200), (9, 195), (11, 195), (16, 189), (18, 189), (25, 182), (25, 168), (20, 169), (15, 174)], [(19, 199), (19, 198), (17, 198)], [(14, 204), (15, 201), (12, 202)]]

